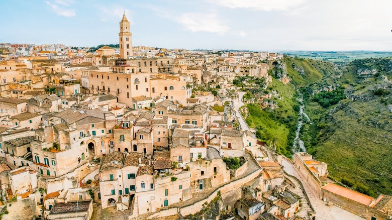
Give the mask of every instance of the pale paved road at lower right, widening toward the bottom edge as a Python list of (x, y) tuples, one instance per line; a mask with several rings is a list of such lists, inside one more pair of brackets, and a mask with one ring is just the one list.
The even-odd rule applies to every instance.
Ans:
[(334, 205), (327, 205), (323, 200), (313, 192), (308, 182), (300, 175), (300, 173), (295, 169), (291, 163), (287, 162), (285, 159), (282, 160), (282, 165), (284, 171), (288, 174), (297, 177), (304, 185), (305, 191), (308, 194), (310, 202), (316, 211), (316, 219), (319, 220), (363, 220), (364, 218), (359, 217), (349, 211), (336, 207)]

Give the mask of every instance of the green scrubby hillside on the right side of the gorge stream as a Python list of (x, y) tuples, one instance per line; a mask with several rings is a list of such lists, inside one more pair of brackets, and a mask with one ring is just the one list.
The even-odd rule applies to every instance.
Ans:
[(331, 176), (372, 196), (392, 194), (391, 72), (389, 59), (354, 60), (301, 89), (313, 122), (301, 131), (308, 152), (329, 164)]

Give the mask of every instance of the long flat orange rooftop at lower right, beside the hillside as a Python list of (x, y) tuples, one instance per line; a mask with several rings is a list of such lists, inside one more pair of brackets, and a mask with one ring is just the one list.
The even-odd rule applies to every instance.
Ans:
[(348, 199), (354, 200), (356, 202), (362, 203), (364, 205), (370, 205), (370, 203), (374, 200), (374, 198), (371, 196), (345, 188), (343, 186), (336, 185), (334, 183), (328, 183), (323, 187), (323, 189), (341, 195)]

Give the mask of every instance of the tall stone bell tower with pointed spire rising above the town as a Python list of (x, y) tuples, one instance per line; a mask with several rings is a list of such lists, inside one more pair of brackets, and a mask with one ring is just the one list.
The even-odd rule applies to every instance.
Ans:
[(119, 38), (121, 58), (127, 59), (129, 56), (133, 56), (131, 24), (125, 17), (125, 12), (120, 22)]

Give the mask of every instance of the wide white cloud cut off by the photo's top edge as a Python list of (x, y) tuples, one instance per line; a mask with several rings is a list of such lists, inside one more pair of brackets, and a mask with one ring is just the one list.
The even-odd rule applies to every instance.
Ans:
[(305, 0), (207, 0), (212, 4), (230, 9), (249, 9), (256, 11), (287, 11), (299, 6)]

